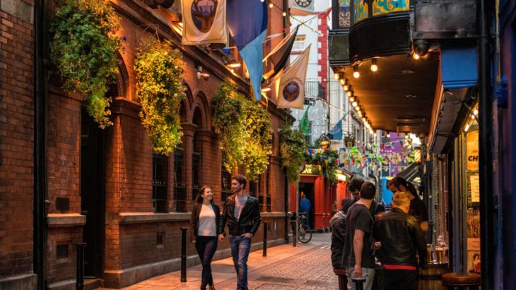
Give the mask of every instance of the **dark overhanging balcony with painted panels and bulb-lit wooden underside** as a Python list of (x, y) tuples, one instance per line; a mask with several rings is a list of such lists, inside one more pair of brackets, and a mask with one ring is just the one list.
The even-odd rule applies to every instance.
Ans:
[(474, 45), (476, 1), (334, 0), (332, 19), (329, 64), (373, 128), (428, 134), (441, 52)]

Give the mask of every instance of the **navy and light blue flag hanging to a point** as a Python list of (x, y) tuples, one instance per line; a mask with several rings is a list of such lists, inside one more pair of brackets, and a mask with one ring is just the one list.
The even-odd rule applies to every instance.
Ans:
[(267, 34), (266, 1), (228, 0), (226, 2), (226, 23), (233, 35), (238, 53), (247, 66), (254, 97), (262, 98), (264, 59), (262, 42)]

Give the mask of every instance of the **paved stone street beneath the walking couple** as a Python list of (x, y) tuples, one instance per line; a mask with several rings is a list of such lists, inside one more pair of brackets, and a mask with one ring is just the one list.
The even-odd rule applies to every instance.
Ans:
[[(314, 234), (310, 243), (298, 243), (296, 248), (292, 243), (268, 248), (267, 257), (262, 257), (262, 250), (250, 253), (247, 262), (249, 289), (339, 289), (332, 270), (329, 241), (329, 234)], [(180, 282), (181, 272), (177, 271), (123, 289), (199, 289), (201, 269), (201, 265), (189, 267), (185, 283)], [(231, 258), (212, 262), (211, 269), (216, 289), (236, 289)]]

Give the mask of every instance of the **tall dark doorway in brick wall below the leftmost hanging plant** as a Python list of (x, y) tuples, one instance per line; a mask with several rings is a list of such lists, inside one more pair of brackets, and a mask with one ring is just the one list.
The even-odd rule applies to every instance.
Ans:
[(83, 226), (84, 274), (102, 277), (105, 231), (105, 164), (102, 129), (88, 115), (81, 112), (81, 215), (86, 215)]

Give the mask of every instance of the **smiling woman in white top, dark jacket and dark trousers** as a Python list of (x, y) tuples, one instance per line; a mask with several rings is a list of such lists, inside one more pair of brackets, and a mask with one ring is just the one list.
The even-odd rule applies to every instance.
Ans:
[(195, 199), (192, 208), (191, 238), (195, 244), (199, 258), (202, 262), (201, 290), (209, 286), (215, 290), (213, 277), (211, 276), (211, 259), (217, 249), (218, 222), (221, 219), (221, 211), (213, 203), (213, 191), (209, 186), (203, 186)]

